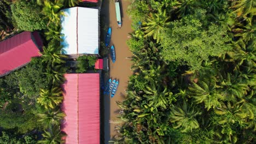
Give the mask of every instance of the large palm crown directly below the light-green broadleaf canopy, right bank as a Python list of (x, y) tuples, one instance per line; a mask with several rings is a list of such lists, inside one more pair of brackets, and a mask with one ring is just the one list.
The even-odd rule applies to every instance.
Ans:
[(190, 97), (193, 97), (197, 104), (204, 103), (207, 110), (220, 107), (220, 101), (224, 99), (216, 89), (216, 82), (193, 82), (188, 89)]

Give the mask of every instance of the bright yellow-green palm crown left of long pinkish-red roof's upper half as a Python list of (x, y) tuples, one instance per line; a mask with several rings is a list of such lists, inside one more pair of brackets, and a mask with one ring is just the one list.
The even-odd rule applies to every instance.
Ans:
[(37, 103), (44, 106), (45, 109), (54, 109), (63, 100), (62, 90), (60, 87), (51, 89), (41, 89), (40, 96), (37, 98)]

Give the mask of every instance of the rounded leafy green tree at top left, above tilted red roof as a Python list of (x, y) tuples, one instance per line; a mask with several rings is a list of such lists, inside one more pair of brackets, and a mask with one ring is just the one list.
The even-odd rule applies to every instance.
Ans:
[(23, 31), (44, 29), (46, 21), (41, 13), (42, 7), (34, 1), (18, 0), (11, 5), (11, 12), (17, 26)]

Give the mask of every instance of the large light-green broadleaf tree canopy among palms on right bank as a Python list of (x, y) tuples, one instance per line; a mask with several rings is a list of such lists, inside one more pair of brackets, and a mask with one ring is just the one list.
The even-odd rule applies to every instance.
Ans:
[[(204, 12), (205, 13), (205, 12)], [(200, 17), (205, 17), (201, 12)], [(203, 22), (199, 16), (188, 15), (171, 22), (162, 33), (161, 55), (166, 61), (185, 62), (192, 69), (200, 69), (202, 61), (231, 50), (231, 38), (226, 29)]]

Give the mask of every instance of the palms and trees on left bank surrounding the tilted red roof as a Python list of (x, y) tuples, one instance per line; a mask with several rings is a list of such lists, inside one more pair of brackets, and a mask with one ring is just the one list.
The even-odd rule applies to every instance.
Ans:
[[(0, 143), (62, 143), (61, 85), (67, 68), (62, 46), (61, 9), (73, 7), (72, 0), (4, 0), (0, 2), (3, 39), (20, 31), (41, 29), (42, 56), (24, 68), (0, 79)], [(92, 60), (90, 60), (91, 62)], [(91, 64), (91, 63), (90, 63)]]

